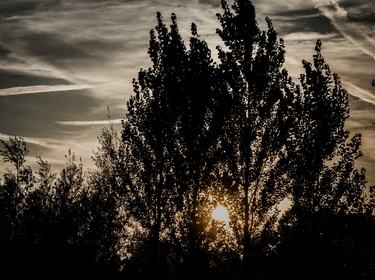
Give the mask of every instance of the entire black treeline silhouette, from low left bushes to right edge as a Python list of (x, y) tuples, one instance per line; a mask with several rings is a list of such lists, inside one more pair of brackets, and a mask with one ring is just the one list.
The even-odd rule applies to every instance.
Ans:
[(294, 83), (271, 20), (222, 8), (217, 62), (195, 24), (187, 46), (157, 14), (95, 169), (69, 151), (60, 174), (40, 157), (35, 172), (22, 138), (1, 140), (1, 279), (374, 279), (374, 192), (322, 43)]

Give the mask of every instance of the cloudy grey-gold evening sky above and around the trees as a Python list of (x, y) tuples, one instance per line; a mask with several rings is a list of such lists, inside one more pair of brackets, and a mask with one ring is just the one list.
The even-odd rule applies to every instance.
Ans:
[[(228, 1), (231, 3), (231, 1)], [(350, 97), (351, 135), (362, 134), (358, 168), (375, 185), (375, 2), (373, 0), (254, 0), (257, 20), (271, 18), (286, 46), (285, 68), (298, 82), (315, 42)], [(41, 156), (59, 171), (68, 150), (93, 168), (97, 137), (126, 114), (132, 79), (151, 66), (149, 31), (160, 11), (176, 13), (188, 43), (190, 25), (214, 51), (219, 0), (0, 0), (0, 139), (22, 137), (36, 169)], [(0, 172), (8, 165), (0, 162)]]

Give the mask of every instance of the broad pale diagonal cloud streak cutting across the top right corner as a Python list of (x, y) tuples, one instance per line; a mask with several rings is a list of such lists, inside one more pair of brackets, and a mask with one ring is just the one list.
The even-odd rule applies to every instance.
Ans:
[(313, 0), (313, 3), (345, 38), (375, 59), (375, 41), (357, 23), (349, 22), (348, 13), (339, 5), (339, 0)]

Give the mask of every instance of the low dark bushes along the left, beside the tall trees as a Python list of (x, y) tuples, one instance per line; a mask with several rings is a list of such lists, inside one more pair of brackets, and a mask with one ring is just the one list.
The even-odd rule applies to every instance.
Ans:
[[(115, 213), (112, 202), (121, 204), (122, 200), (113, 192), (100, 192), (102, 188), (92, 178), (85, 181), (82, 163), (77, 163), (71, 151), (60, 176), (41, 157), (37, 157), (39, 171), (33, 175), (24, 167), (26, 142), (16, 136), (9, 139), (1, 152), (5, 160), (15, 162), (18, 172), (8, 169), (0, 185), (0, 277), (115, 279), (120, 266), (116, 262), (119, 242), (115, 241), (122, 237), (117, 230), (122, 224), (111, 216)], [(105, 146), (104, 140), (101, 143)], [(96, 156), (104, 161), (99, 152)], [(104, 174), (101, 177), (104, 181)], [(98, 212), (102, 217), (95, 219)]]

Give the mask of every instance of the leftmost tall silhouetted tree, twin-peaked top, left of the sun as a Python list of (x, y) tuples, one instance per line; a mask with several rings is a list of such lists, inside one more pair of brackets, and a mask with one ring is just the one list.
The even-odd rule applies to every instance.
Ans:
[(122, 139), (129, 158), (128, 202), (130, 214), (146, 231), (152, 265), (158, 275), (159, 241), (165, 238), (181, 199), (173, 158), (180, 92), (184, 87), (186, 47), (172, 14), (170, 30), (157, 14), (158, 25), (150, 31), (152, 67), (141, 69), (134, 79)]

